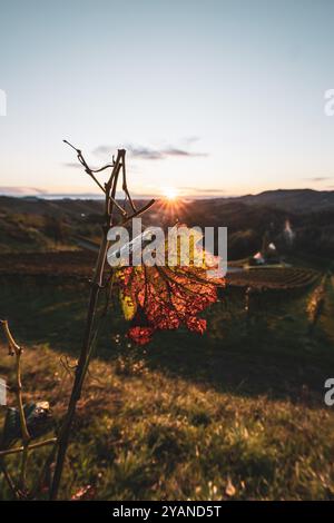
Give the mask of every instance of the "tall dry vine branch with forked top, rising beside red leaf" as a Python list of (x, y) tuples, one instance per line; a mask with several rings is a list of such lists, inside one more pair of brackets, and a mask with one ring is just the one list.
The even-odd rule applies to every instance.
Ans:
[[(92, 354), (92, 346), (96, 341), (97, 332), (94, 330), (94, 326), (96, 323), (96, 312), (97, 312), (97, 305), (98, 305), (100, 290), (104, 288), (104, 270), (106, 266), (106, 258), (107, 258), (107, 250), (108, 250), (107, 235), (108, 235), (108, 230), (114, 225), (114, 220), (115, 220), (114, 211), (115, 209), (119, 211), (121, 216), (120, 225), (125, 225), (134, 217), (145, 213), (154, 204), (154, 200), (150, 200), (143, 208), (138, 210), (136, 209), (134, 201), (130, 197), (128, 187), (127, 187), (126, 167), (125, 167), (125, 155), (126, 155), (125, 149), (118, 150), (116, 160), (114, 160), (114, 157), (112, 157), (112, 164), (107, 164), (99, 169), (91, 169), (88, 166), (87, 161), (85, 160), (81, 150), (73, 147), (69, 141), (67, 140), (63, 140), (63, 141), (68, 144), (72, 149), (76, 150), (78, 160), (85, 168), (86, 172), (94, 179), (94, 181), (98, 185), (98, 187), (104, 191), (105, 194), (105, 224), (102, 227), (102, 237), (101, 237), (101, 241), (99, 246), (99, 254), (98, 254), (97, 264), (96, 264), (96, 268), (94, 273), (94, 278), (91, 280), (90, 297), (89, 297), (88, 312), (87, 312), (87, 318), (86, 318), (86, 328), (85, 328), (85, 334), (84, 334), (84, 343), (82, 343), (78, 365), (76, 368), (75, 383), (73, 383), (70, 399), (69, 399), (68, 409), (65, 415), (62, 425), (60, 426), (60, 431), (58, 435), (58, 443), (56, 447), (56, 453), (57, 453), (56, 467), (55, 467), (53, 480), (52, 480), (51, 492), (50, 492), (51, 500), (56, 500), (58, 497), (66, 452), (67, 452), (67, 447), (69, 443), (71, 424), (75, 417), (77, 402), (80, 398), (85, 377), (88, 371), (90, 357)], [(100, 181), (96, 178), (95, 174), (101, 172), (108, 168), (111, 168), (111, 174), (104, 187), (100, 184)], [(122, 190), (125, 191), (126, 197), (129, 200), (129, 204), (132, 210), (131, 215), (128, 215), (126, 209), (122, 208), (116, 201), (116, 190), (117, 190), (117, 185), (118, 185), (120, 172), (122, 175)]]

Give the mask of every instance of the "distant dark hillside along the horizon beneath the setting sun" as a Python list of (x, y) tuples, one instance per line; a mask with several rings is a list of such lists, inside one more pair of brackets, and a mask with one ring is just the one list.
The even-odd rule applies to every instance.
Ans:
[[(138, 200), (141, 205), (144, 200)], [(79, 248), (76, 237), (97, 241), (102, 200), (13, 198), (0, 196), (0, 251), (46, 251)], [(334, 256), (334, 191), (274, 190), (238, 198), (215, 198), (156, 205), (143, 216), (145, 225), (225, 226), (228, 257), (261, 249), (269, 233), (281, 250), (286, 220), (293, 230), (289, 249)], [(85, 243), (80, 241), (80, 246)]]

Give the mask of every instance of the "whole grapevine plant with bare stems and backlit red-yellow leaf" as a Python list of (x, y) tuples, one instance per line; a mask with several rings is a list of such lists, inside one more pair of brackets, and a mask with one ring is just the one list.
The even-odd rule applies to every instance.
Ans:
[[(50, 433), (50, 408), (48, 402), (24, 404), (21, 383), (22, 347), (16, 342), (7, 320), (1, 320), (1, 327), (9, 348), (9, 355), (14, 358), (16, 378), (11, 389), (16, 393), (17, 406), (6, 407), (7, 415), (0, 438), (0, 474), (2, 473), (12, 496), (18, 500), (45, 499), (57, 500), (65, 466), (65, 458), (71, 436), (72, 422), (77, 403), (80, 399), (82, 386), (89, 363), (97, 345), (101, 322), (108, 309), (108, 297), (112, 293), (119, 295), (125, 319), (130, 322), (128, 337), (136, 344), (144, 345), (151, 341), (156, 330), (177, 329), (181, 325), (189, 330), (203, 334), (206, 320), (198, 314), (217, 300), (217, 287), (224, 285), (220, 278), (208, 276), (208, 267), (218, 264), (218, 259), (206, 253), (197, 244), (193, 245), (189, 263), (183, 266), (178, 250), (175, 257), (178, 263), (165, 266), (118, 266), (111, 268), (107, 263), (109, 248), (108, 231), (115, 225), (126, 226), (132, 218), (148, 210), (154, 200), (137, 208), (128, 187), (126, 175), (126, 151), (119, 149), (116, 158), (98, 169), (88, 166), (80, 149), (63, 140), (77, 154), (84, 170), (97, 184), (104, 194), (105, 213), (101, 228), (99, 253), (90, 282), (90, 295), (87, 307), (84, 339), (79, 358), (75, 367), (72, 389), (67, 409), (55, 431), (53, 437), (42, 438)], [(109, 170), (107, 180), (99, 180), (101, 174)], [(122, 204), (116, 199), (119, 184), (125, 194)], [(185, 226), (177, 224), (180, 236), (187, 231)], [(168, 249), (168, 244), (164, 247)], [(168, 258), (170, 259), (170, 257)], [(200, 263), (195, 263), (195, 260)], [(101, 295), (106, 295), (106, 305), (99, 313)], [(40, 447), (49, 446), (50, 452), (41, 466), (39, 476), (29, 481), (29, 454)], [(9, 473), (6, 458), (10, 454), (21, 454), (21, 467), (18, 477)], [(33, 483), (33, 485), (31, 485)]]

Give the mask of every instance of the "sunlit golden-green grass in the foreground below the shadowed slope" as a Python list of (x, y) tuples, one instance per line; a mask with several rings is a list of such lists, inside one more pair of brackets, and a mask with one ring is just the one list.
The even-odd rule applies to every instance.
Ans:
[[(50, 398), (57, 420), (70, 385), (59, 354), (36, 346), (24, 359), (27, 399)], [(2, 356), (1, 372), (9, 363)], [(333, 499), (333, 431), (325, 408), (95, 361), (61, 496), (90, 484), (101, 500)], [(17, 458), (8, 461), (14, 470)]]

